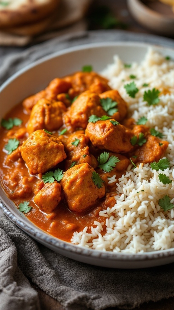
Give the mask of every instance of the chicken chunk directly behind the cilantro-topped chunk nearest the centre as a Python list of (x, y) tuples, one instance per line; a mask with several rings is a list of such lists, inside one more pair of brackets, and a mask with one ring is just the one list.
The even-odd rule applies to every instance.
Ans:
[(100, 105), (100, 98), (97, 94), (85, 91), (72, 103), (70, 110), (64, 113), (65, 123), (71, 124), (73, 128), (85, 129), (89, 116), (95, 114), (99, 117), (106, 112)]

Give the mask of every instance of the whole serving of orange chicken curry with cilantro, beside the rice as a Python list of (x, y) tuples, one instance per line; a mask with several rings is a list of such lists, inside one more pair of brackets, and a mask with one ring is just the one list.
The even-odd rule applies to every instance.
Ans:
[(163, 157), (168, 142), (127, 116), (127, 103), (91, 72), (55, 78), (2, 120), (2, 187), (28, 219), (65, 241), (115, 205), (130, 164)]

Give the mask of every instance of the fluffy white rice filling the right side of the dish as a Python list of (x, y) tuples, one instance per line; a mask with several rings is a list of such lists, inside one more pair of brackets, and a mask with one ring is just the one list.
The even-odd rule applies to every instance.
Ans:
[[(130, 79), (131, 74), (136, 78)], [(163, 133), (163, 140), (169, 142), (164, 158), (167, 157), (171, 165), (164, 171), (152, 170), (149, 164), (140, 163), (135, 169), (130, 165), (119, 183), (116, 183), (116, 175), (109, 178), (109, 183), (115, 182), (118, 193), (115, 206), (99, 213), (103, 222), (94, 221), (90, 233), (87, 233), (87, 227), (74, 232), (71, 242), (86, 248), (124, 253), (174, 247), (174, 209), (164, 211), (159, 206), (159, 199), (165, 195), (174, 203), (174, 61), (166, 60), (149, 48), (141, 64), (134, 62), (130, 68), (124, 68), (124, 63), (115, 56), (114, 63), (108, 65), (102, 75), (128, 103), (129, 117), (137, 121), (145, 116), (147, 126)], [(125, 84), (133, 81), (139, 89), (136, 98), (129, 97), (124, 89)], [(144, 83), (149, 86), (142, 86)], [(157, 105), (148, 106), (143, 101), (143, 94), (153, 88), (169, 92), (159, 96)], [(168, 176), (172, 183), (160, 182), (160, 173)], [(106, 233), (102, 236), (105, 221)]]

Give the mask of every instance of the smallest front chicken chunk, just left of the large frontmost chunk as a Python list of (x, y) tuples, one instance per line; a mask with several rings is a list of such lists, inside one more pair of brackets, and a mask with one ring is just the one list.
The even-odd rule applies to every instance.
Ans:
[(44, 212), (52, 212), (62, 199), (62, 188), (58, 182), (46, 184), (35, 196), (34, 202)]

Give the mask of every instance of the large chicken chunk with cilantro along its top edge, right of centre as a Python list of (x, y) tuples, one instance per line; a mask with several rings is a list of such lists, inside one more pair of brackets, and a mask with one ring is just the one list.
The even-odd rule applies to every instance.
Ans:
[(112, 121), (115, 120), (89, 122), (85, 133), (92, 144), (100, 149), (116, 153), (129, 152), (133, 149), (130, 143), (132, 132), (120, 124), (113, 125)]

